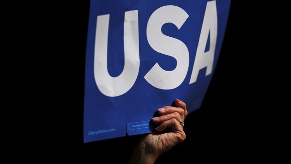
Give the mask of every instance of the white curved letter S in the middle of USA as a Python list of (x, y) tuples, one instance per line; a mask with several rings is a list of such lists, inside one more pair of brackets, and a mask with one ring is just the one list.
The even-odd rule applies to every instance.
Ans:
[(189, 51), (178, 39), (162, 33), (165, 23), (173, 23), (178, 29), (189, 15), (180, 7), (168, 5), (157, 9), (148, 19), (146, 37), (149, 45), (157, 52), (174, 57), (177, 66), (172, 71), (163, 70), (156, 63), (145, 75), (146, 81), (158, 89), (175, 89), (185, 79), (189, 67)]

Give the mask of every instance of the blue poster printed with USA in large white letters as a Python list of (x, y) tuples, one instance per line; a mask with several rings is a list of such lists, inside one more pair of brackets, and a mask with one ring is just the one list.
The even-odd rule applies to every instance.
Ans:
[(84, 142), (150, 133), (178, 98), (198, 109), (213, 75), (230, 0), (91, 0)]

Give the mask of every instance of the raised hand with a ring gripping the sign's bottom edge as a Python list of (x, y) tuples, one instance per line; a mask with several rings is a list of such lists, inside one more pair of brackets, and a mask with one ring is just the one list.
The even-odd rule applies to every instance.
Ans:
[[(178, 121), (184, 120), (187, 115), (186, 104), (178, 99), (175, 104), (178, 107), (165, 106), (158, 109), (162, 116), (153, 118), (155, 123), (161, 123), (156, 128), (157, 133), (146, 134), (141, 139), (129, 164), (154, 164), (162, 153), (185, 140), (186, 134)], [(162, 133), (166, 128), (169, 128), (169, 132)]]

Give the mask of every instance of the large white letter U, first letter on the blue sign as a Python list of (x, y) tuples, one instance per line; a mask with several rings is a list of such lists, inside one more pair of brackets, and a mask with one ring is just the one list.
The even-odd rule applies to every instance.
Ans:
[(109, 97), (116, 97), (129, 91), (139, 72), (138, 11), (125, 12), (123, 33), (124, 68), (117, 77), (109, 75), (107, 69), (109, 16), (109, 14), (97, 16), (94, 77), (101, 93)]

